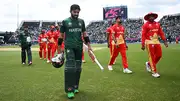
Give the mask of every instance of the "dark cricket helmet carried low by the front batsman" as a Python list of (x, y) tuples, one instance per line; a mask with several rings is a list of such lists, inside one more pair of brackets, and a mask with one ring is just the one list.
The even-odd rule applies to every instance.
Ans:
[(61, 53), (60, 56), (57, 55), (56, 57), (52, 58), (52, 65), (55, 68), (61, 68), (64, 65), (64, 61), (64, 53)]

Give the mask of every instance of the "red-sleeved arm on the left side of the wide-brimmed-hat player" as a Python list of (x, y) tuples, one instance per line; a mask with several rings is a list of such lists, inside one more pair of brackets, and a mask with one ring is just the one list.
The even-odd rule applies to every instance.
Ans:
[(146, 28), (146, 25), (144, 24), (144, 25), (142, 26), (142, 31), (141, 31), (141, 45), (142, 45), (142, 50), (145, 49), (146, 33), (147, 33), (147, 28)]

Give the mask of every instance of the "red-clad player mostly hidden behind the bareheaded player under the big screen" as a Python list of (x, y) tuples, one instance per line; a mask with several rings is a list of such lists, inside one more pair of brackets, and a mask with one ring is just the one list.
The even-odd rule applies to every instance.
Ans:
[[(112, 26), (114, 25), (114, 22), (112, 22), (112, 25), (107, 28), (107, 44), (108, 48), (110, 50), (110, 56), (112, 57)], [(115, 64), (116, 59), (114, 60), (113, 64)]]

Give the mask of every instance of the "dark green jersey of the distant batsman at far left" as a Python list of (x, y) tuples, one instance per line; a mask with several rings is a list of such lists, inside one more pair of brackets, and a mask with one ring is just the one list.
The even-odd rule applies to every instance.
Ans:
[(19, 41), (21, 46), (26, 46), (31, 44), (32, 36), (29, 32), (21, 31), (19, 35)]

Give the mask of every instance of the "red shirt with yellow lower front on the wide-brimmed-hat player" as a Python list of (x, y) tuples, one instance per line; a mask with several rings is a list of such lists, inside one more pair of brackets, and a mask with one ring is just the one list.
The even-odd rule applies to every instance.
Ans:
[(145, 44), (160, 44), (158, 36), (162, 40), (166, 40), (164, 32), (158, 22), (146, 22), (142, 26), (142, 45)]

